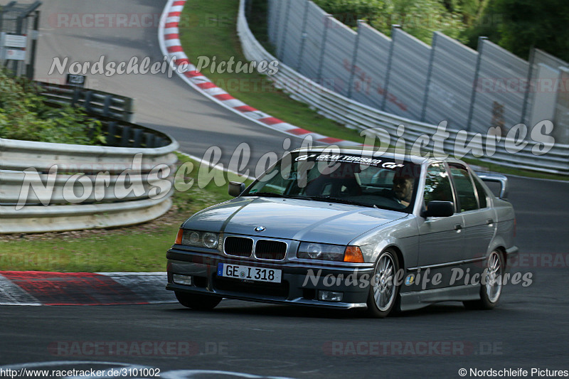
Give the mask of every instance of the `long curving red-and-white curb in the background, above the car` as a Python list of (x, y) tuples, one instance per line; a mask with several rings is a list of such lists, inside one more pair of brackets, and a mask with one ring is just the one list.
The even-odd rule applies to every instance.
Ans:
[(292, 124), (272, 117), (270, 114), (257, 110), (253, 107), (250, 107), (249, 105), (246, 105), (241, 100), (235, 99), (235, 97), (229, 95), (228, 92), (225, 92), (225, 90), (221, 89), (213, 82), (211, 82), (211, 80), (206, 78), (206, 76), (204, 76), (201, 72), (197, 72), (196, 66), (190, 62), (188, 55), (184, 53), (184, 49), (182, 48), (180, 42), (179, 23), (181, 12), (184, 9), (185, 4), (186, 0), (168, 1), (161, 16), (158, 39), (160, 43), (160, 49), (162, 50), (164, 56), (167, 56), (169, 60), (175, 57), (175, 65), (177, 67), (180, 67), (181, 65), (184, 67), (187, 65), (187, 69), (184, 70), (184, 73), (180, 73), (179, 70), (175, 70), (175, 72), (180, 76), (180, 78), (188, 83), (188, 85), (193, 87), (193, 89), (197, 90), (198, 92), (201, 92), (210, 100), (217, 102), (228, 110), (240, 114), (241, 116), (250, 119), (252, 122), (260, 124), (263, 127), (275, 129), (292, 137), (312, 137), (312, 141), (317, 144), (361, 146), (361, 144), (358, 144), (356, 142), (326, 137), (322, 134), (310, 132), (307, 129), (296, 127)]

